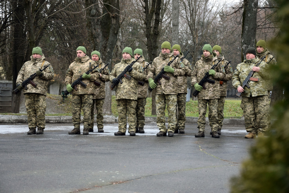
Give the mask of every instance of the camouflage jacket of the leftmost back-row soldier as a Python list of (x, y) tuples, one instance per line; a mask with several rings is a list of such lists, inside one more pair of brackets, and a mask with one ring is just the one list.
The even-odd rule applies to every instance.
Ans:
[[(101, 59), (99, 59), (98, 61), (95, 61), (96, 65), (99, 65), (96, 69), (97, 72), (100, 71), (100, 69), (102, 69), (105, 66), (105, 63), (102, 63)], [(96, 72), (96, 73), (97, 73)], [(97, 82), (100, 83), (100, 86), (96, 86), (95, 84), (93, 84), (93, 88), (94, 90), (94, 94), (92, 99), (102, 99), (105, 98), (105, 82), (109, 81), (109, 69), (108, 67), (105, 67), (105, 69), (103, 69), (103, 71), (101, 71), (101, 77), (99, 77), (99, 80), (97, 80)]]

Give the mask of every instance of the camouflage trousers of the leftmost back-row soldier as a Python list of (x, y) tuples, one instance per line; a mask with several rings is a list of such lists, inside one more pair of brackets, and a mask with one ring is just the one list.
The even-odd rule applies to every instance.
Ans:
[(97, 111), (97, 116), (96, 116), (96, 123), (97, 123), (97, 128), (98, 129), (103, 129), (103, 114), (102, 114), (102, 107), (104, 104), (104, 98), (101, 99), (92, 99), (92, 105), (90, 109), (90, 123), (89, 123), (89, 128), (93, 128), (94, 126), (94, 105)]

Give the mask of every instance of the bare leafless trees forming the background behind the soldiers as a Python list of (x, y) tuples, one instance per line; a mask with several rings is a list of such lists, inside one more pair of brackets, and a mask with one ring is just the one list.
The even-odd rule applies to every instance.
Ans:
[[(187, 59), (193, 66), (204, 44), (218, 44), (235, 69), (247, 47), (260, 39), (271, 40), (281, 25), (274, 16), (278, 6), (271, 0), (0, 0), (0, 5), (0, 79), (12, 80), (13, 89), (20, 68), (36, 46), (52, 64), (54, 81), (62, 89), (78, 46), (86, 47), (88, 56), (98, 50), (111, 69), (126, 46), (141, 48), (150, 61), (160, 53), (162, 42), (175, 42), (184, 54), (190, 51)], [(173, 21), (176, 6), (178, 34)], [(192, 88), (190, 78), (188, 87)], [(231, 82), (228, 89), (233, 89)], [(108, 86), (106, 92), (104, 109), (110, 114)], [(18, 100), (13, 95), (14, 112), (19, 111)]]

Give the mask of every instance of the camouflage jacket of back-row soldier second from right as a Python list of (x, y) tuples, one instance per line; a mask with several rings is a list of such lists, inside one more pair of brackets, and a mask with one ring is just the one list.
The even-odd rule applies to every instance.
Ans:
[[(233, 75), (233, 69), (231, 67), (231, 63), (229, 65), (227, 65), (227, 63), (229, 63), (227, 60), (225, 60), (223, 54), (220, 54), (220, 56), (218, 57), (218, 60), (222, 59), (221, 61), (221, 68), (223, 73), (225, 74), (224, 79), (220, 80), (220, 96), (227, 96), (227, 81), (232, 79), (232, 75)], [(225, 66), (227, 65), (227, 67), (225, 68)]]

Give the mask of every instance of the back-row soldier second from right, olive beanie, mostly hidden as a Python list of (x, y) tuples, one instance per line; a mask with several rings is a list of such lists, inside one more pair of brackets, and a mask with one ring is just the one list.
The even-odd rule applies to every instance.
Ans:
[[(224, 79), (220, 80), (220, 98), (218, 99), (218, 130), (217, 133), (221, 135), (221, 129), (223, 126), (223, 120), (224, 120), (224, 104), (225, 104), (225, 98), (227, 96), (227, 81), (232, 79), (233, 75), (233, 69), (231, 65), (227, 65), (229, 62), (225, 60), (222, 52), (222, 49), (220, 46), (215, 45), (213, 48), (213, 52), (216, 53), (218, 60), (222, 59), (221, 61), (221, 67), (223, 70), (223, 73), (225, 74)], [(212, 135), (212, 131), (210, 133)]]

